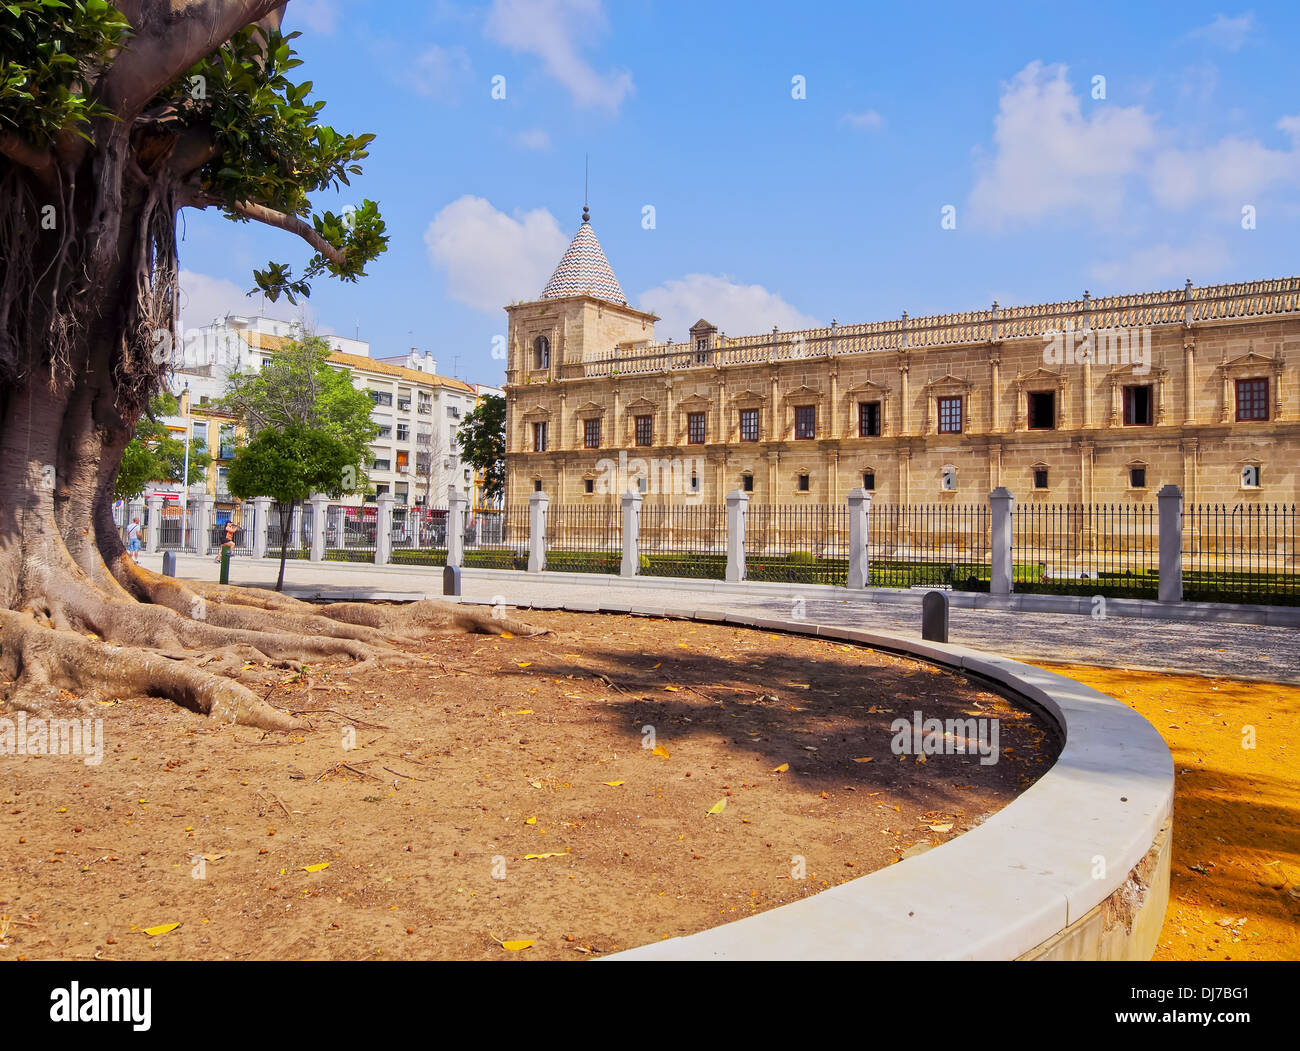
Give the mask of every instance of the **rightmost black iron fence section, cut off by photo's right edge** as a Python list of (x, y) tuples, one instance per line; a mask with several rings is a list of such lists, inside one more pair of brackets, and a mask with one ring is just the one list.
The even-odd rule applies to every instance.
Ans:
[(1300, 605), (1296, 505), (1183, 509), (1183, 597)]

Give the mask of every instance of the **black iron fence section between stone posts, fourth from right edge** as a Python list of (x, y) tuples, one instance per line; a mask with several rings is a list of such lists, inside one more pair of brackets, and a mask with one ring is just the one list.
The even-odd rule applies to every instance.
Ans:
[(745, 578), (797, 584), (849, 581), (849, 509), (751, 505), (745, 520)]

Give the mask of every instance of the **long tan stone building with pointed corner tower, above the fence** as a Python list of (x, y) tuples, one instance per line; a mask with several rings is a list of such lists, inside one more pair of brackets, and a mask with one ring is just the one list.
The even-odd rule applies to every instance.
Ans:
[(507, 307), (507, 501), (1294, 502), (1300, 278), (656, 343), (584, 213)]

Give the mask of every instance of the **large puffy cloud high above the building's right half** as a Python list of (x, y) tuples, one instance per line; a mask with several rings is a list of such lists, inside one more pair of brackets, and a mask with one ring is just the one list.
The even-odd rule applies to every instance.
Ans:
[(1113, 217), (1124, 178), (1154, 138), (1141, 107), (1106, 104), (1084, 117), (1066, 68), (1030, 62), (1004, 87), (997, 150), (971, 190), (971, 219), (996, 228), (1070, 213)]

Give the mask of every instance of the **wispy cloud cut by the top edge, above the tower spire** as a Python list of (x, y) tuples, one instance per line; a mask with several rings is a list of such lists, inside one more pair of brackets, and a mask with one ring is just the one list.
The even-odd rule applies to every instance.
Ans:
[(580, 51), (606, 27), (601, 0), (493, 0), (485, 23), (489, 39), (541, 59), (577, 105), (618, 112), (632, 91), (632, 74), (597, 73)]

